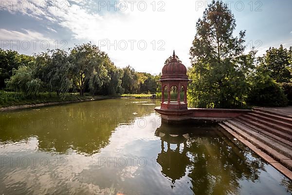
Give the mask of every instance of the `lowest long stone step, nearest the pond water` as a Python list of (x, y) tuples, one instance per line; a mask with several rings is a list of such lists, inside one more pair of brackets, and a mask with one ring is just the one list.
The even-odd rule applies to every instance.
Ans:
[[(237, 137), (238, 136), (241, 137), (241, 139), (242, 138), (245, 139), (247, 142), (256, 146), (256, 148), (260, 149), (261, 151), (265, 152), (267, 155), (274, 158), (274, 160), (276, 160), (277, 162), (280, 162), (281, 164), (283, 164), (289, 170), (292, 170), (292, 162), (291, 162), (291, 159), (289, 157), (282, 155), (281, 153), (277, 152), (273, 148), (271, 148), (268, 145), (264, 144), (263, 142), (257, 140), (256, 138), (248, 135), (247, 133), (243, 132), (242, 130), (238, 129), (237, 127), (233, 126), (233, 128), (236, 128), (236, 131), (235, 131), (233, 128), (229, 128), (225, 124), (220, 123), (219, 125), (228, 132), (230, 132), (230, 130), (231, 130), (233, 132), (232, 133), (233, 136), (236, 135)], [(251, 148), (250, 146), (248, 146), (248, 147)]]

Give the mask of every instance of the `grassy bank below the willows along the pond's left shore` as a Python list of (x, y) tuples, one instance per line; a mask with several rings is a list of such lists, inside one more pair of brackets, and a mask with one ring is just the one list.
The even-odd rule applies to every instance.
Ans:
[(101, 96), (91, 96), (86, 94), (81, 97), (79, 94), (68, 93), (62, 98), (57, 97), (56, 93), (40, 93), (35, 96), (25, 96), (22, 93), (17, 92), (5, 92), (0, 91), (0, 107), (16, 106), (24, 104), (39, 104), (39, 103), (50, 103), (50, 102), (65, 102), (65, 101), (80, 101), (95, 99)]

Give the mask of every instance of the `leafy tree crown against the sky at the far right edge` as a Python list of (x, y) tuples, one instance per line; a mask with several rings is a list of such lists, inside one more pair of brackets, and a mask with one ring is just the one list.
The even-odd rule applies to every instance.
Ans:
[(268, 73), (276, 82), (291, 82), (292, 80), (292, 47), (290, 49), (271, 48), (267, 53), (259, 58), (261, 68), (265, 73)]

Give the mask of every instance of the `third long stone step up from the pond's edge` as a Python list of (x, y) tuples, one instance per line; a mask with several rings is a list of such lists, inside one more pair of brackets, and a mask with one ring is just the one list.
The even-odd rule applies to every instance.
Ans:
[(277, 142), (278, 144), (281, 144), (281, 145), (292, 150), (292, 142), (288, 141), (287, 139), (284, 139), (282, 137), (278, 137), (278, 136), (276, 136), (276, 135), (274, 135), (266, 130), (260, 129), (259, 127), (256, 127), (256, 126), (254, 126), (246, 121), (243, 121), (239, 118), (235, 118), (234, 120), (239, 122), (239, 123), (244, 124), (245, 126), (251, 128), (251, 129), (253, 129), (256, 133), (259, 133), (265, 137), (268, 137), (268, 138), (274, 140), (275, 142)]

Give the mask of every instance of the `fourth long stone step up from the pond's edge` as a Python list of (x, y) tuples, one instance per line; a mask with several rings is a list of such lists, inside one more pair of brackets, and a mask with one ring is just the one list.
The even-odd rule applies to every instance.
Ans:
[(259, 122), (256, 122), (255, 120), (252, 120), (252, 119), (249, 119), (249, 118), (246, 118), (246, 117), (240, 116), (240, 117), (237, 117), (237, 118), (245, 121), (246, 123), (249, 123), (249, 124), (252, 124), (252, 125), (254, 125), (256, 127), (259, 127), (262, 130), (268, 131), (268, 132), (270, 132), (270, 133), (272, 133), (272, 134), (274, 134), (274, 135), (276, 135), (278, 137), (282, 137), (282, 138), (292, 142), (292, 136), (287, 134), (287, 133), (284, 133), (284, 132), (281, 132), (281, 131), (279, 131), (277, 129), (271, 128), (271, 127), (266, 126), (266, 125), (263, 125), (263, 124), (261, 124)]

